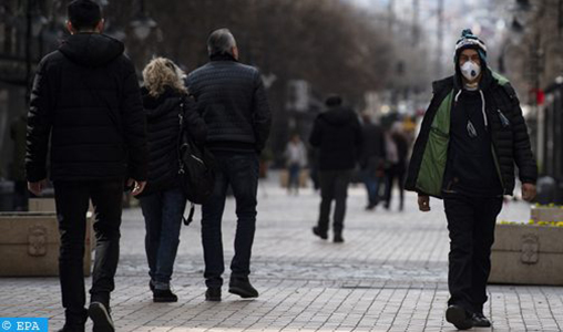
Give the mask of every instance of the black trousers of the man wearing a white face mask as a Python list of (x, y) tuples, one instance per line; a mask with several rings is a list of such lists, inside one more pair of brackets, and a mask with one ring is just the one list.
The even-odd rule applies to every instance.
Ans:
[(448, 304), (482, 313), (488, 300), (491, 246), (502, 197), (449, 194), (443, 205), (450, 231), (448, 287), (451, 298)]

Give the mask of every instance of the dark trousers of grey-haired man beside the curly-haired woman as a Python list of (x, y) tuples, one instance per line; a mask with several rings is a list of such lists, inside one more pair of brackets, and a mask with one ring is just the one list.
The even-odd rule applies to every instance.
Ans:
[(225, 271), (221, 224), (227, 187), (236, 201), (235, 256), (231, 278), (247, 278), (256, 230), (256, 194), (258, 190), (258, 155), (255, 153), (216, 152), (215, 189), (202, 207), (202, 241), (205, 260), (205, 283), (209, 288), (223, 284)]

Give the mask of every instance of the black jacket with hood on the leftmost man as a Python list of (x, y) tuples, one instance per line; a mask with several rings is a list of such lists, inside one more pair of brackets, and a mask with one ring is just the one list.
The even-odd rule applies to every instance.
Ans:
[(145, 116), (123, 43), (98, 33), (69, 37), (41, 60), (28, 115), (27, 177), (146, 179)]

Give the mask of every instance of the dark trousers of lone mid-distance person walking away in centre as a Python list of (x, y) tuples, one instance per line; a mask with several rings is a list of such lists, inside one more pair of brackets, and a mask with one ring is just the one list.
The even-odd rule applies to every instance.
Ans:
[(332, 200), (335, 200), (332, 230), (335, 234), (342, 232), (350, 177), (351, 170), (321, 170), (319, 173), (321, 199), (318, 228), (320, 232), (328, 231)]

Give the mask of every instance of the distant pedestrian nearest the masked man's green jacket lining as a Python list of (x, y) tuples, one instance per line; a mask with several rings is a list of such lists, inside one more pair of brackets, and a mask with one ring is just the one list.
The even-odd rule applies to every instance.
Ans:
[(399, 210), (405, 207), (405, 174), (407, 172), (407, 158), (409, 153), (409, 142), (400, 122), (396, 122), (386, 133), (386, 142), (389, 148), (387, 168), (385, 172), (385, 208), (391, 207), (392, 191), (395, 184), (399, 189)]

